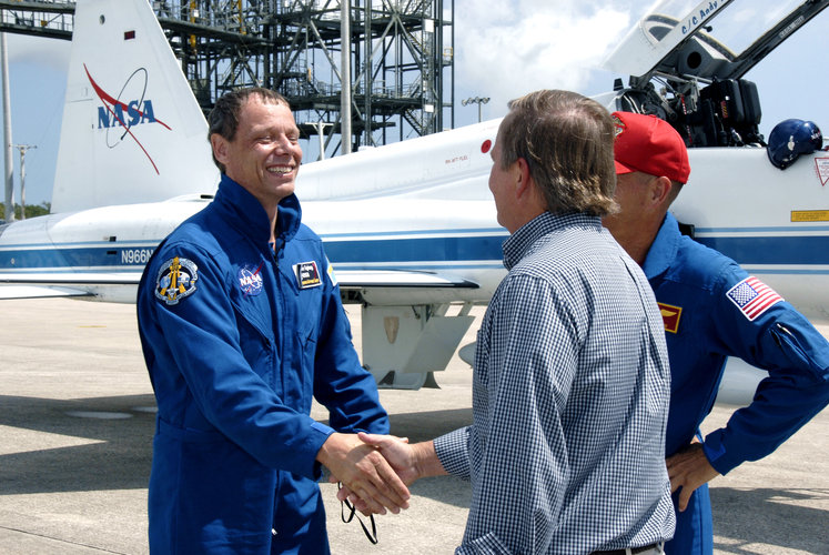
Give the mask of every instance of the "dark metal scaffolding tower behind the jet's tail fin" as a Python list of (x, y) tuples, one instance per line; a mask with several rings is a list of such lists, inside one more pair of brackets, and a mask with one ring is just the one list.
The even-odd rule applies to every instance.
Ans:
[[(454, 124), (454, 0), (151, 3), (205, 111), (237, 87), (276, 90), (306, 137), (328, 130), (328, 155)], [(0, 0), (0, 31), (68, 38), (72, 9)], [(350, 102), (341, 102), (344, 90)]]

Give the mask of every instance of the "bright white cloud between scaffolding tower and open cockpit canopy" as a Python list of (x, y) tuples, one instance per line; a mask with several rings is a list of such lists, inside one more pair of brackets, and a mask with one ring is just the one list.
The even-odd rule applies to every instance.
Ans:
[[(491, 115), (537, 89), (583, 90), (643, 10), (635, 2), (465, 0), (455, 12), (458, 98), (492, 98)], [(635, 11), (635, 13), (634, 13)]]

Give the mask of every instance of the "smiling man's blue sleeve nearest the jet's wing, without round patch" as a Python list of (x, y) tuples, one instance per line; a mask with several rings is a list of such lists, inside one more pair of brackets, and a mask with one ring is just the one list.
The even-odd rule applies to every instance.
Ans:
[(340, 300), (331, 263), (323, 254), (324, 291), (314, 369), (314, 396), (330, 413), (338, 432), (390, 432), (374, 376), (363, 369), (352, 343), (351, 325)]

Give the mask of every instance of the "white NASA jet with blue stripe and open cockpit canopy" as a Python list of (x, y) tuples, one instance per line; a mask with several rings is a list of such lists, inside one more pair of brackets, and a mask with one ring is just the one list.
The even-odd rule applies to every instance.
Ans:
[[(774, 167), (742, 75), (827, 6), (663, 2), (607, 60), (629, 84), (597, 98), (674, 124), (692, 168), (677, 219), (812, 319), (829, 315), (829, 154)], [(363, 363), (381, 385), (429, 383), (505, 275), (507, 232), (487, 186), (498, 124), (302, 167), (303, 220), (324, 240), (344, 301), (362, 303)], [(0, 299), (134, 302), (153, 249), (215, 191), (206, 132), (149, 3), (80, 0), (53, 214), (0, 226)]]

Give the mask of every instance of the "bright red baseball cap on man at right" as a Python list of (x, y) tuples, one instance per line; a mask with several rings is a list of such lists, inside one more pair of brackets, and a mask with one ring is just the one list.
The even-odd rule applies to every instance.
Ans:
[(656, 115), (614, 112), (616, 173), (639, 171), (686, 183), (690, 174), (688, 150), (676, 129)]

